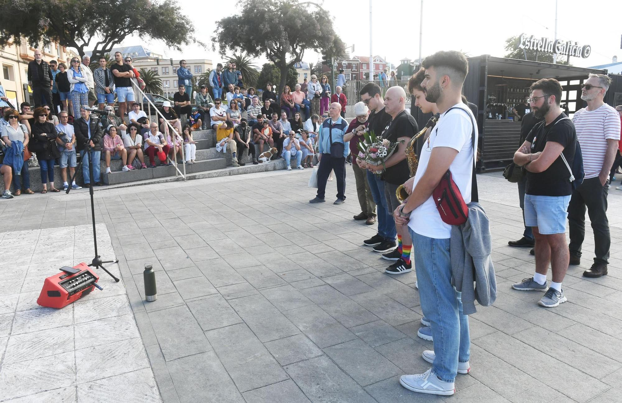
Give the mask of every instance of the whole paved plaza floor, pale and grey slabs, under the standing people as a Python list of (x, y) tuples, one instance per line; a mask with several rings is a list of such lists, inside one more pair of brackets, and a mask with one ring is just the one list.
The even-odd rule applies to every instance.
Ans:
[[(534, 272), (516, 184), (478, 175), (491, 220), (498, 298), (470, 317), (471, 372), (457, 393), (416, 394), (432, 343), (417, 337), (415, 272), (362, 245), (376, 225), (346, 203), (311, 205), (310, 170), (273, 171), (95, 192), (100, 253), (114, 283), (53, 310), (43, 279), (90, 262), (90, 200), (81, 190), (0, 201), (0, 402), (567, 403), (622, 401), (622, 192), (611, 190), (609, 275), (564, 281), (568, 302), (537, 305), (510, 284)], [(142, 270), (158, 298), (144, 301)], [(550, 276), (549, 276), (550, 279)]]

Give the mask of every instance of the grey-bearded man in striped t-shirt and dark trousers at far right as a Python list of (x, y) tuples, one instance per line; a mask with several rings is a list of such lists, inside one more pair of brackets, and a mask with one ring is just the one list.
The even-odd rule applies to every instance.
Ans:
[(611, 79), (603, 74), (590, 74), (581, 86), (581, 99), (587, 108), (575, 112), (572, 121), (583, 154), (583, 183), (572, 192), (568, 206), (570, 228), (570, 264), (580, 264), (581, 245), (585, 238), (585, 208), (594, 231), (595, 255), (585, 277), (607, 274), (611, 236), (607, 220), (609, 173), (620, 141), (620, 117), (603, 101)]

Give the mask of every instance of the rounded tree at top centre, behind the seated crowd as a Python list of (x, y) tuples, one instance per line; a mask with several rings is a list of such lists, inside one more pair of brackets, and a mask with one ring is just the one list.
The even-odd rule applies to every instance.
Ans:
[(287, 82), (294, 63), (302, 62), (305, 50), (345, 55), (333, 17), (315, 2), (244, 0), (239, 9), (240, 14), (216, 22), (213, 49), (218, 44), (223, 54), (231, 50), (254, 57), (266, 55), (280, 72), (279, 88)]

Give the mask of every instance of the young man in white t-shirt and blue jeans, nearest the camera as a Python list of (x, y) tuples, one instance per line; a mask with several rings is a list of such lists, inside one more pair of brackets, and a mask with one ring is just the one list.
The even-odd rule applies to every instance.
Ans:
[[(419, 297), (430, 321), (434, 351), (423, 353), (432, 368), (424, 374), (402, 375), (400, 383), (414, 392), (452, 395), (459, 371), (468, 373), (470, 336), (460, 294), (452, 285), (449, 255), (451, 226), (442, 221), (432, 190), (449, 169), (465, 203), (471, 202), (471, 174), (477, 144), (475, 119), (462, 103), (468, 62), (460, 52), (437, 52), (425, 58), (425, 100), (436, 103), (440, 118), (420, 152), (413, 190), (406, 204), (394, 211), (396, 224), (409, 226), (415, 256)], [(450, 108), (451, 111), (448, 111)]]

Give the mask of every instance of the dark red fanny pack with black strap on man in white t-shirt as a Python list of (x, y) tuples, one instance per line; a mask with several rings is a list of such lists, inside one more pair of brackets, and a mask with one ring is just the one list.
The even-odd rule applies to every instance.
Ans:
[[(449, 108), (447, 112), (452, 109), (462, 109), (458, 107)], [(464, 110), (464, 109), (462, 109)], [(465, 111), (466, 112), (466, 111)], [(469, 118), (471, 116), (469, 115)], [(471, 132), (471, 140), (473, 141), (473, 155), (476, 155), (475, 150), (475, 123), (471, 118), (471, 124), (473, 125), (473, 131)], [(462, 193), (455, 182), (453, 182), (452, 172), (447, 170), (443, 177), (440, 179), (439, 185), (432, 191), (432, 197), (434, 197), (434, 204), (437, 210), (439, 210), (440, 218), (443, 223), (448, 225), (463, 225), (468, 218), (468, 207)], [(478, 202), (477, 194), (477, 179), (475, 177), (475, 157), (473, 157), (473, 172), (471, 174), (471, 202)]]

